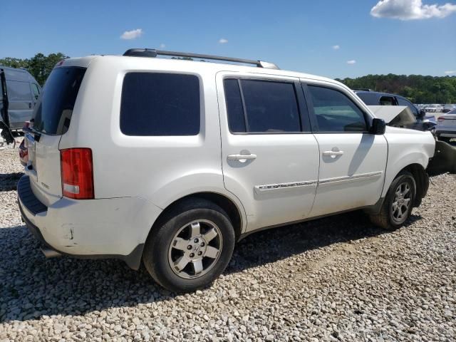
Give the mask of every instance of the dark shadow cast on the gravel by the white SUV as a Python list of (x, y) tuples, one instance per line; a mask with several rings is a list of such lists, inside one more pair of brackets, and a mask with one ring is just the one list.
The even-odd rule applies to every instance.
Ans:
[[(413, 216), (408, 224), (420, 218)], [(266, 230), (237, 245), (225, 274), (384, 233), (361, 212)], [(123, 261), (45, 259), (24, 226), (0, 229), (0, 255), (0, 323), (81, 315), (175, 296), (155, 284), (144, 268), (133, 271)]]

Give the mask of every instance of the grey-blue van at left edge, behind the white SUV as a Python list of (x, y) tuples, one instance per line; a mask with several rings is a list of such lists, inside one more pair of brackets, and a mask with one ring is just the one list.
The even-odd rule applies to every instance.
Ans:
[(4, 129), (6, 142), (14, 142), (11, 130), (21, 130), (31, 119), (41, 87), (24, 69), (0, 66), (0, 128)]

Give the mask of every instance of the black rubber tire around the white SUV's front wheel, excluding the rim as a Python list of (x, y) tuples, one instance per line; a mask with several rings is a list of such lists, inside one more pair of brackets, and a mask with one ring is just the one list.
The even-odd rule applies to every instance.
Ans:
[[(399, 185), (407, 184), (410, 187), (410, 205), (408, 205), (407, 210), (403, 213), (403, 216), (398, 219), (398, 211), (393, 209), (393, 202), (396, 195), (396, 190), (398, 190)], [(413, 175), (408, 171), (401, 171), (391, 182), (390, 188), (386, 193), (385, 200), (383, 201), (382, 207), (378, 214), (371, 214), (369, 215), (371, 222), (376, 226), (394, 230), (401, 227), (404, 222), (410, 217), (410, 214), (413, 209), (413, 204), (415, 203), (415, 196), (416, 196), (416, 182)], [(397, 202), (395, 202), (397, 203)], [(403, 209), (404, 207), (402, 207)], [(402, 210), (401, 209), (401, 210)]]

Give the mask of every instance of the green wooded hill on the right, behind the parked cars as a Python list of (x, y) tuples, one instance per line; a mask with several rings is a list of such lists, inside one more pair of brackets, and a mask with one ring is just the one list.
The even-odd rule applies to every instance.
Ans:
[(455, 76), (368, 75), (337, 81), (352, 89), (369, 88), (403, 95), (413, 103), (456, 103)]

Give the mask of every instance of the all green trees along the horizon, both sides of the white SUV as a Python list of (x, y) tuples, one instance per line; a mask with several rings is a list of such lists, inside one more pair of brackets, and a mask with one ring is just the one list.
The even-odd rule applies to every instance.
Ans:
[[(69, 58), (63, 53), (36, 53), (32, 58), (0, 59), (0, 66), (24, 68), (43, 86), (53, 67), (58, 61)], [(192, 58), (177, 58), (192, 59)], [(367, 75), (358, 78), (338, 79), (351, 89), (368, 88), (384, 93), (403, 95), (413, 103), (456, 103), (455, 76), (421, 76), (421, 75)]]

